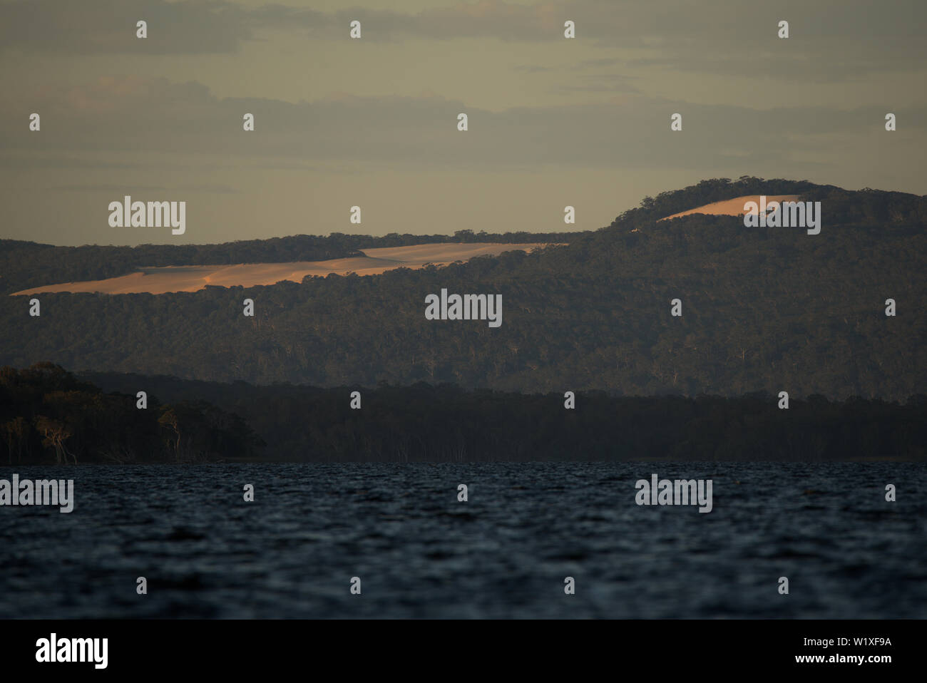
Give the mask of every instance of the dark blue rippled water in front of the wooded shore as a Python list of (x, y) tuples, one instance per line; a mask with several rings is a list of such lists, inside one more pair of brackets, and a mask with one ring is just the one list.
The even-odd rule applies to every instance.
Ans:
[[(924, 464), (13, 472), (76, 504), (0, 507), (0, 617), (927, 617)], [(639, 507), (654, 472), (713, 479), (714, 510)]]

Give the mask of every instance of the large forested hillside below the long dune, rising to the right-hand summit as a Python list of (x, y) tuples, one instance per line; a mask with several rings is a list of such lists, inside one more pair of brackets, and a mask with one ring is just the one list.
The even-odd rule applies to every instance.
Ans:
[[(729, 216), (659, 221), (747, 194), (820, 201), (820, 234)], [(256, 384), (904, 399), (927, 384), (925, 226), (921, 196), (705, 181), (648, 197), (568, 246), (446, 268), (158, 296), (45, 294), (37, 318), (28, 297), (0, 297), (0, 363)], [(425, 297), (442, 288), (501, 294), (502, 325), (426, 320)], [(681, 317), (670, 314), (675, 298)]]

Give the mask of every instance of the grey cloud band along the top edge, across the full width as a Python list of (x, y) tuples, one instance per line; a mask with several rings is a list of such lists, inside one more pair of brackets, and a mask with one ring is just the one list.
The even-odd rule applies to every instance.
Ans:
[[(149, 37), (134, 37), (137, 19)], [(923, 70), (927, 3), (922, 0), (743, 0), (617, 3), (568, 0), (510, 5), (502, 0), (435, 7), (419, 13), (350, 8), (321, 12), (269, 4), (248, 9), (226, 0), (20, 0), (0, 4), (0, 49), (77, 54), (230, 53), (262, 29), (347, 40), (358, 19), (363, 40), (492, 38), (510, 42), (564, 40), (566, 19), (577, 41), (603, 50), (634, 50), (635, 68), (755, 75), (805, 81), (854, 80), (884, 70)], [(776, 37), (780, 19), (792, 37)], [(587, 43), (589, 44), (589, 43)], [(427, 49), (427, 48), (423, 48)], [(513, 49), (517, 49), (514, 47)], [(618, 57), (586, 59), (583, 68), (612, 66)], [(922, 84), (922, 83), (921, 83)]]

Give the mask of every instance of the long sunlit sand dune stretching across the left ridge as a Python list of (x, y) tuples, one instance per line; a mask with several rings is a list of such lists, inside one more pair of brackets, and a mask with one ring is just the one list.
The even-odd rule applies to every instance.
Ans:
[(362, 249), (364, 256), (349, 259), (295, 261), (292, 263), (239, 263), (215, 266), (166, 266), (141, 268), (138, 272), (108, 280), (45, 285), (16, 292), (16, 295), (44, 292), (100, 292), (103, 294), (165, 294), (196, 292), (207, 285), (233, 287), (274, 285), (281, 280), (302, 282), (306, 275), (378, 275), (395, 268), (422, 268), (428, 263), (445, 266), (476, 256), (498, 256), (503, 251), (530, 251), (543, 244), (430, 244), (412, 247)]

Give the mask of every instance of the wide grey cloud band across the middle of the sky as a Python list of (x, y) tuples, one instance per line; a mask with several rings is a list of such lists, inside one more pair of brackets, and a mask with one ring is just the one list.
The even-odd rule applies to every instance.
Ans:
[[(606, 74), (603, 81), (609, 78), (624, 77)], [(195, 82), (108, 79), (75, 89), (64, 99), (50, 98), (43, 121), (47, 116), (57, 124), (47, 130), (44, 125), (41, 135), (24, 125), (7, 125), (0, 115), (0, 147), (65, 158), (80, 152), (132, 152), (161, 160), (166, 154), (185, 162), (190, 155), (215, 154), (242, 167), (290, 159), (322, 168), (382, 162), (493, 169), (539, 164), (705, 169), (728, 163), (733, 149), (747, 165), (787, 159), (799, 171), (804, 162), (793, 159), (793, 151), (819, 148), (832, 158), (879, 130), (884, 117), (876, 107), (708, 106), (641, 95), (616, 100), (502, 112), (438, 96), (342, 95), (293, 104), (219, 99)], [(164, 116), (166, 110), (170, 117)], [(245, 112), (255, 116), (253, 133), (242, 130)], [(456, 129), (459, 112), (469, 116), (465, 133)], [(682, 133), (670, 132), (674, 112), (683, 116)], [(922, 141), (927, 110), (896, 113)]]

